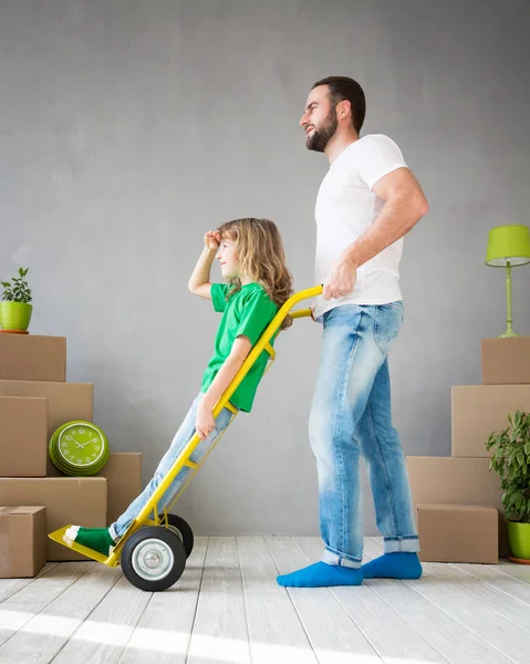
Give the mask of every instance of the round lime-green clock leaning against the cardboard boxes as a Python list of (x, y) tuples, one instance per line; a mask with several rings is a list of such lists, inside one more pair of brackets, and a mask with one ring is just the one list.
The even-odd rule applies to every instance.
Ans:
[(49, 452), (53, 465), (64, 475), (90, 476), (103, 469), (110, 447), (100, 427), (77, 419), (66, 422), (53, 433)]

